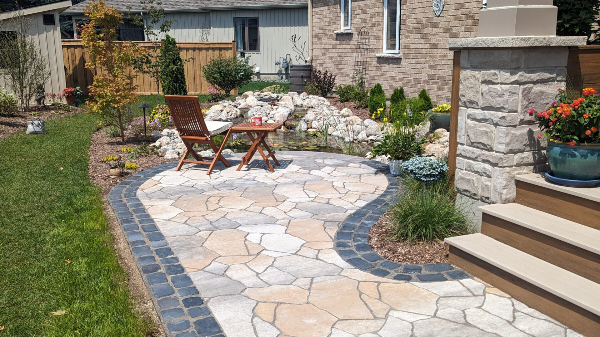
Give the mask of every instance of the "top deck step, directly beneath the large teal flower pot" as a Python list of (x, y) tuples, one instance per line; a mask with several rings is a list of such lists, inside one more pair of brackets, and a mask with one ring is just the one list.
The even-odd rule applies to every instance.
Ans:
[(577, 188), (548, 182), (540, 173), (515, 176), (515, 203), (600, 230), (600, 186)]

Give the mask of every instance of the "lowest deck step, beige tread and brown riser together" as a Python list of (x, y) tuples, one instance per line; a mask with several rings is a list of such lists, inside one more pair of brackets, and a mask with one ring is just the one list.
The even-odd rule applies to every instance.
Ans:
[(445, 241), (452, 264), (583, 335), (600, 336), (600, 284), (481, 233)]

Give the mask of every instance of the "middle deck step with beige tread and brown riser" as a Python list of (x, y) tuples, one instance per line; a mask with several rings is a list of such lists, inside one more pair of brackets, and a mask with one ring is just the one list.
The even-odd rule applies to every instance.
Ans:
[(490, 204), (481, 233), (600, 284), (600, 230), (521, 204)]

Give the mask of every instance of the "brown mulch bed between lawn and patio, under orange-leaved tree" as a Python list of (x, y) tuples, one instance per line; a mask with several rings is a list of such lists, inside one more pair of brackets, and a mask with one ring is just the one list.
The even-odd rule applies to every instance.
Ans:
[[(140, 121), (143, 120), (143, 117), (137, 117)], [(148, 134), (150, 134), (150, 130), (148, 130)], [(148, 146), (152, 145), (156, 140), (148, 139), (146, 144)], [(143, 155), (141, 157), (137, 157), (136, 159), (127, 158), (127, 153), (121, 152), (121, 148), (128, 147), (134, 148), (142, 145), (142, 141), (136, 140), (133, 137), (133, 131), (125, 130), (125, 144), (121, 143), (121, 137), (112, 138), (106, 135), (104, 130), (98, 129), (94, 134), (92, 134), (92, 145), (89, 147), (89, 176), (92, 181), (97, 183), (103, 189), (103, 192), (109, 192), (110, 189), (115, 187), (119, 182), (130, 177), (132, 174), (136, 174), (139, 171), (143, 171), (149, 169), (153, 166), (157, 166), (164, 163), (170, 163), (172, 161), (176, 161), (177, 159), (166, 159), (164, 157), (158, 157), (158, 155)], [(114, 155), (117, 157), (121, 157), (122, 163), (136, 163), (139, 167), (135, 170), (122, 170), (123, 174), (118, 178), (111, 178), (109, 176), (109, 166), (104, 163), (104, 157)]]

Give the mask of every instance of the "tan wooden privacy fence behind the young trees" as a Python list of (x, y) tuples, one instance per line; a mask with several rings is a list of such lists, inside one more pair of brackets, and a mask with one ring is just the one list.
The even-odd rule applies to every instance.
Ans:
[[(136, 41), (139, 46), (152, 48), (152, 43)], [(235, 42), (179, 42), (179, 55), (182, 59), (194, 58), (185, 64), (185, 83), (187, 83), (188, 94), (208, 94), (208, 82), (202, 77), (202, 66), (218, 55), (227, 58), (235, 55)], [(88, 49), (81, 45), (81, 40), (62, 40), (62, 57), (65, 64), (65, 77), (67, 88), (81, 87), (82, 91), (88, 93), (88, 86), (92, 85), (96, 68), (86, 68), (89, 61)], [(133, 68), (129, 68), (129, 74), (133, 75)], [(156, 94), (156, 84), (148, 76), (137, 73), (133, 77), (132, 85), (136, 86), (138, 94)]]

